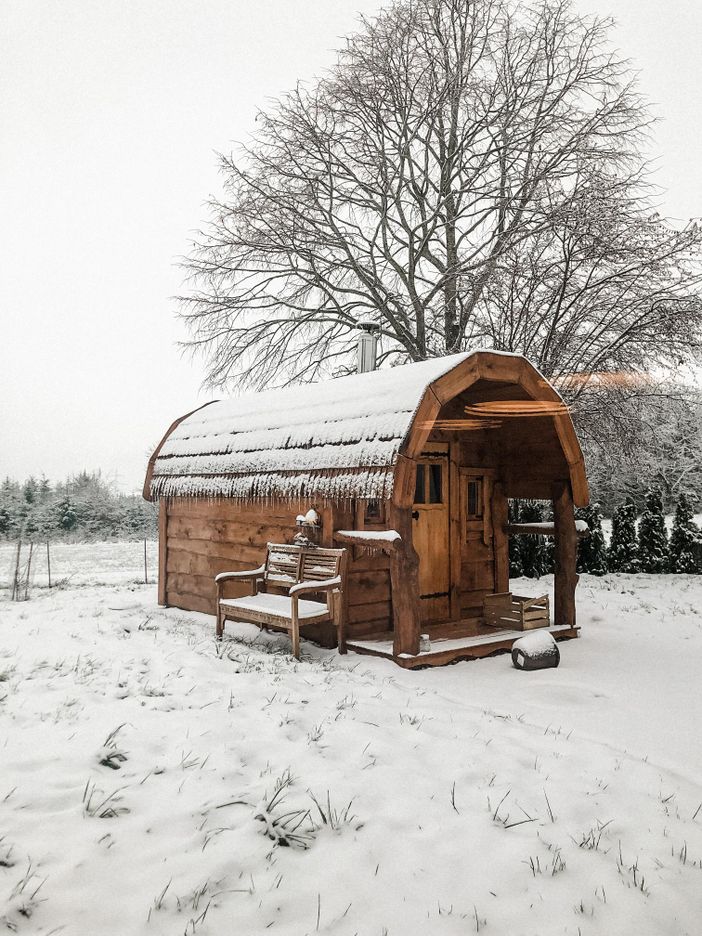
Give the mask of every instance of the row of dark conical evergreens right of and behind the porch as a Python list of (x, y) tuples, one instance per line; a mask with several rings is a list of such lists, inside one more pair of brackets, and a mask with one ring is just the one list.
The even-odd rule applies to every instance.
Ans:
[[(612, 514), (609, 544), (602, 531), (599, 504), (579, 508), (576, 519), (584, 520), (590, 535), (578, 543), (578, 572), (605, 575), (607, 572), (702, 573), (702, 531), (693, 520), (685, 494), (680, 494), (673, 526), (668, 535), (661, 493), (647, 492), (637, 523), (637, 508), (628, 497)], [(540, 501), (512, 501), (511, 523), (540, 523), (553, 519)], [(509, 544), (510, 576), (538, 578), (553, 572), (555, 548), (552, 538), (512, 536)]]

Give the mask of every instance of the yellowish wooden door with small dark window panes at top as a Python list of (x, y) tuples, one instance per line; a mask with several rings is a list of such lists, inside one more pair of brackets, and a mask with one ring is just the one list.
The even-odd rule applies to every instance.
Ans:
[(422, 621), (449, 618), (449, 458), (448, 446), (428, 446), (417, 459), (412, 507), (412, 542), (419, 556)]

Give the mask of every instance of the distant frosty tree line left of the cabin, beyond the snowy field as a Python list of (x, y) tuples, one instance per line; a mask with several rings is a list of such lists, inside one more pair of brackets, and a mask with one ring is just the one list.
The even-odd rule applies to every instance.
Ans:
[(102, 540), (156, 538), (153, 504), (121, 494), (100, 472), (82, 471), (51, 484), (46, 478), (0, 484), (0, 538)]

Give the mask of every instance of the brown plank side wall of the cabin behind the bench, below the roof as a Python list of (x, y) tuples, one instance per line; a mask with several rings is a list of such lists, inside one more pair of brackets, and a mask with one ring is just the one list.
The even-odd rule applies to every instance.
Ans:
[[(159, 600), (187, 611), (214, 615), (214, 576), (253, 569), (265, 558), (268, 542), (289, 543), (296, 533), (299, 504), (266, 504), (226, 498), (172, 498), (161, 502)], [(357, 511), (317, 508), (323, 519), (322, 545), (332, 546), (335, 529), (354, 529)], [(246, 585), (229, 585), (231, 597), (247, 594)], [(346, 590), (347, 633), (362, 637), (392, 630), (389, 560), (350, 549)], [(334, 646), (331, 627), (303, 631), (325, 646)]]

